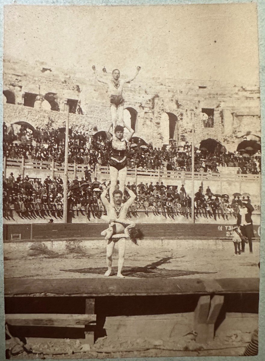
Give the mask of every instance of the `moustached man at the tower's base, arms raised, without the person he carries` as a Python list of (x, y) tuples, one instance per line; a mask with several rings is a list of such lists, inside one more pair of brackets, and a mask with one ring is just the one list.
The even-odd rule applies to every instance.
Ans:
[[(101, 200), (104, 204), (106, 210), (107, 210), (107, 217), (110, 222), (124, 222), (128, 223), (126, 221), (126, 216), (129, 207), (134, 202), (136, 195), (134, 192), (132, 192), (129, 188), (125, 187), (126, 191), (129, 193), (130, 198), (125, 202), (122, 203), (122, 192), (118, 189), (114, 190), (112, 193), (113, 195), (113, 203), (109, 203), (106, 195), (107, 191), (109, 190), (109, 187), (107, 187), (102, 193), (101, 193)], [(107, 240), (107, 267), (108, 270), (105, 272), (105, 276), (109, 276), (112, 270), (112, 255), (114, 250), (114, 245), (117, 243), (118, 252), (119, 252), (119, 259), (118, 259), (118, 272), (117, 277), (125, 278), (121, 274), (123, 262), (124, 262), (124, 254), (125, 254), (125, 246), (126, 246), (126, 238), (110, 238)]]

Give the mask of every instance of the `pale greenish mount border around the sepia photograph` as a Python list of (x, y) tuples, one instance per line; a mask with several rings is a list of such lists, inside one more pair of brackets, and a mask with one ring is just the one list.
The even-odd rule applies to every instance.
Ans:
[[(174, 4), (226, 4), (226, 3), (256, 3), (258, 12), (259, 28), (259, 62), (260, 62), (260, 99), (261, 99), (261, 148), (265, 152), (265, 0), (0, 0), (0, 70), (3, 73), (3, 6), (4, 5), (174, 5)], [(0, 78), (1, 94), (3, 91), (3, 79)], [(3, 103), (0, 101), (0, 118), (3, 122)], [(2, 173), (3, 149), (2, 149), (2, 126), (0, 127), (0, 170)], [(265, 358), (265, 225), (263, 222), (265, 209), (265, 156), (261, 164), (261, 243), (260, 243), (260, 303), (259, 303), (259, 355), (253, 357), (200, 357), (200, 360), (263, 360)], [(0, 197), (2, 200), (2, 177), (0, 177)], [(0, 234), (3, 234), (2, 202), (0, 202)], [(3, 237), (1, 236), (1, 241)], [(194, 357), (157, 357), (156, 360), (181, 360), (194, 361)], [(5, 332), (4, 332), (4, 264), (3, 242), (0, 242), (0, 360), (5, 360)], [(73, 359), (72, 359), (73, 360)], [(80, 359), (79, 359), (80, 360)], [(108, 359), (114, 360), (114, 359)], [(129, 358), (115, 360), (131, 360)], [(146, 358), (134, 358), (134, 360), (146, 360)], [(52, 360), (50, 360), (52, 361)]]

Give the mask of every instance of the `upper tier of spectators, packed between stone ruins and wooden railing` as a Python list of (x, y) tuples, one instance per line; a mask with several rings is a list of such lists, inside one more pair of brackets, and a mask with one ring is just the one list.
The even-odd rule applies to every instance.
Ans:
[[(64, 162), (65, 129), (35, 130), (21, 126), (15, 134), (14, 127), (3, 125), (3, 154), (7, 158), (25, 158), (25, 160), (48, 161), (58, 164)], [(93, 136), (88, 132), (69, 131), (69, 163), (108, 166), (108, 138), (104, 135)], [(253, 152), (252, 152), (253, 153)], [(226, 149), (195, 148), (195, 171), (218, 173), (221, 166), (238, 167), (238, 173), (260, 174), (260, 152), (251, 153), (226, 152)], [(191, 171), (191, 144), (183, 146), (174, 141), (162, 148), (153, 148), (140, 138), (132, 138), (128, 154), (128, 168), (143, 170), (163, 169), (174, 171)]]

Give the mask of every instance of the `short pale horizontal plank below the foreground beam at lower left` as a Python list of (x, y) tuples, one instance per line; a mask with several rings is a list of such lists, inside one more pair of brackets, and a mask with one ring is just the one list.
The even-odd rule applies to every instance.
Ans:
[(5, 321), (12, 326), (57, 326), (73, 327), (96, 322), (95, 314), (48, 314), (12, 313), (5, 315)]

